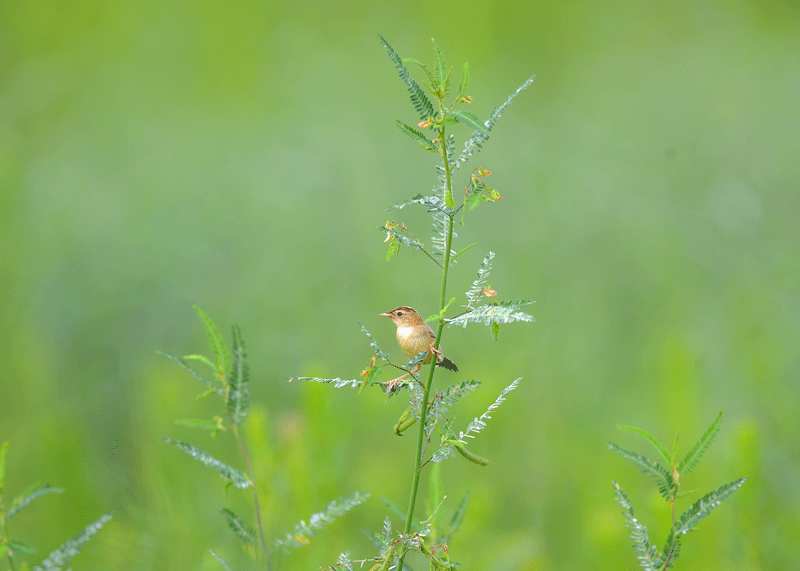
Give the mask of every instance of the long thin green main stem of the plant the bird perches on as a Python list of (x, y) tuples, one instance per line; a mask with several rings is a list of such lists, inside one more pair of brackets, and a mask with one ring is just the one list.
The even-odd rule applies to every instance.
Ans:
[[(447, 145), (445, 144), (444, 127), (439, 129), (439, 138), (442, 141), (442, 159), (444, 161), (444, 168), (446, 173), (446, 188), (445, 193), (450, 194), (450, 162), (447, 156)], [(444, 245), (444, 264), (442, 264), (442, 296), (439, 301), (439, 313), (442, 312), (447, 299), (447, 270), (450, 267), (450, 250), (453, 242), (453, 216), (447, 216), (447, 240)], [(436, 341), (434, 348), (439, 348), (439, 343), (442, 339), (442, 330), (444, 329), (444, 321), (439, 320), (439, 327), (436, 331)], [(431, 368), (428, 373), (428, 382), (425, 383), (425, 394), (422, 398), (422, 409), (420, 411), (419, 434), (417, 436), (417, 453), (414, 459), (414, 477), (411, 481), (411, 496), (408, 500), (408, 513), (406, 514), (406, 525), (403, 530), (404, 535), (411, 533), (411, 522), (414, 520), (414, 505), (417, 501), (417, 490), (419, 488), (419, 476), (422, 472), (422, 451), (425, 448), (425, 429), (427, 428), (428, 417), (428, 399), (431, 394), (431, 387), (433, 386), (433, 373), (436, 370), (436, 359), (431, 359)], [(398, 571), (403, 571), (403, 561), (405, 553), (400, 555), (398, 562)]]

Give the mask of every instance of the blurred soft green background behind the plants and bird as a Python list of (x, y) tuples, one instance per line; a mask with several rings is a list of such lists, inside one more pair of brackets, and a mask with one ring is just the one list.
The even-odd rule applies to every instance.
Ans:
[(678, 565), (800, 568), (800, 8), (737, 0), (2, 3), (6, 501), (34, 481), (66, 488), (12, 521), (41, 549), (31, 561), (108, 510), (76, 566), (219, 569), (208, 548), (247, 560), (215, 510), (247, 514), (247, 495), (226, 499), (161, 440), (240, 465), (228, 434), (173, 424), (219, 411), (155, 353), (207, 352), (193, 303), (248, 343), (270, 535), (373, 494), (284, 568), (373, 555), (360, 530), (380, 529), (378, 496), (407, 502), (414, 439), (391, 432), (405, 401), (286, 379), (354, 378), (371, 355), (358, 322), (399, 357), (377, 314), (437, 308), (433, 264), (387, 263), (372, 228), (394, 218), (427, 240), (422, 209), (384, 208), (429, 191), (435, 158), (393, 124), (415, 114), (378, 33), (402, 57), (430, 61), (434, 37), (456, 70), (468, 61), (482, 118), (536, 75), (470, 166), (492, 169), (504, 200), (458, 230), (457, 249), (478, 247), (449, 293), (463, 302), (491, 249), (492, 287), (536, 299), (538, 321), (497, 343), (445, 331), (461, 372), (439, 383), (485, 383), (455, 408), (462, 424), (524, 377), (473, 445), (490, 464), (443, 465), (444, 514), (472, 490), (451, 555), (634, 568), (611, 480), (653, 541), (669, 516), (606, 449), (647, 451), (615, 425), (680, 431), (686, 450), (725, 409), (684, 484), (749, 480)]

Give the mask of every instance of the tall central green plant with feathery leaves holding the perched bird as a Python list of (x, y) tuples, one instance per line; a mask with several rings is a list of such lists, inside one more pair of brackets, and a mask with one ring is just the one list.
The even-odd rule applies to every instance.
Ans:
[[(473, 209), (480, 203), (493, 202), (500, 199), (500, 195), (496, 191), (489, 189), (483, 181), (483, 177), (488, 176), (490, 171), (483, 168), (476, 169), (471, 175), (467, 183), (465, 191), (465, 202), (462, 206), (456, 207), (453, 199), (453, 173), (461, 163), (466, 162), (481, 145), (488, 139), (488, 132), (499, 119), (508, 103), (523, 89), (530, 85), (530, 80), (523, 84), (516, 92), (514, 92), (503, 105), (496, 108), (489, 120), (481, 122), (477, 115), (474, 113), (455, 108), (456, 105), (469, 104), (472, 98), (467, 95), (467, 88), (469, 86), (469, 66), (464, 64), (461, 79), (458, 85), (458, 93), (455, 101), (451, 104), (445, 104), (444, 98), (448, 95), (450, 87), (450, 78), (453, 68), (448, 66), (447, 60), (443, 52), (434, 42), (434, 64), (428, 67), (425, 64), (412, 59), (401, 59), (397, 52), (392, 48), (388, 42), (379, 36), (381, 44), (386, 48), (389, 58), (395, 64), (395, 67), (400, 73), (400, 78), (408, 86), (408, 91), (411, 97), (411, 103), (419, 116), (419, 123), (417, 128), (397, 120), (396, 125), (403, 133), (416, 141), (421, 148), (427, 151), (436, 152), (440, 158), (441, 163), (436, 165), (435, 176), (436, 183), (433, 188), (433, 193), (430, 195), (423, 195), (421, 193), (415, 194), (412, 198), (403, 202), (397, 203), (389, 207), (387, 210), (400, 210), (407, 206), (421, 205), (430, 214), (433, 225), (433, 235), (430, 240), (430, 246), (424, 244), (419, 240), (411, 230), (403, 223), (396, 221), (389, 221), (385, 225), (378, 227), (380, 231), (386, 234), (386, 242), (389, 242), (389, 249), (386, 259), (390, 260), (393, 256), (400, 252), (401, 247), (412, 248), (416, 251), (424, 253), (430, 260), (432, 260), (437, 268), (442, 273), (442, 287), (441, 296), (439, 300), (439, 310), (431, 316), (427, 322), (436, 321), (438, 323), (437, 331), (435, 331), (435, 346), (430, 350), (435, 352), (438, 344), (441, 341), (442, 331), (445, 323), (448, 325), (458, 324), (466, 327), (469, 323), (483, 323), (490, 327), (492, 336), (497, 339), (499, 334), (499, 324), (510, 323), (513, 321), (533, 321), (533, 317), (522, 312), (521, 308), (530, 304), (530, 301), (505, 301), (497, 302), (494, 298), (497, 292), (488, 287), (487, 279), (491, 271), (491, 263), (494, 258), (494, 253), (489, 254), (483, 259), (481, 267), (478, 270), (478, 278), (473, 282), (472, 287), (467, 291), (467, 305), (465, 311), (461, 314), (447, 318), (446, 313), (455, 298), (447, 297), (447, 278), (448, 271), (452, 264), (455, 263), (456, 258), (469, 250), (475, 244), (466, 246), (456, 252), (453, 249), (453, 241), (458, 238), (458, 234), (454, 229), (454, 219), (458, 211), (467, 208)], [(413, 80), (406, 69), (404, 62), (414, 63), (420, 66), (425, 73), (427, 81), (424, 85), (428, 88), (435, 101), (438, 103), (436, 107), (428, 99), (428, 96), (422, 91), (419, 84)], [(453, 160), (455, 155), (455, 137), (448, 134), (447, 128), (453, 125), (464, 125), (473, 131), (471, 138), (466, 144), (465, 151), (462, 157), (458, 160)], [(430, 130), (435, 135), (429, 137), (425, 131)], [(462, 214), (463, 223), (463, 214)], [(477, 302), (482, 298), (491, 299), (492, 302), (487, 305), (478, 306)], [(360, 324), (359, 324), (360, 325)], [(374, 355), (370, 360), (369, 366), (361, 373), (363, 381), (347, 380), (343, 381), (340, 378), (335, 379), (321, 379), (317, 377), (297, 377), (298, 379), (305, 379), (312, 382), (330, 383), (335, 387), (351, 386), (360, 387), (364, 390), (368, 386), (378, 385), (384, 391), (389, 393), (389, 396), (396, 394), (401, 389), (407, 388), (409, 394), (409, 406), (402, 413), (400, 419), (394, 425), (393, 432), (400, 436), (411, 426), (419, 423), (419, 430), (417, 432), (417, 447), (413, 464), (413, 483), (411, 489), (411, 496), (409, 498), (408, 509), (403, 515), (403, 509), (396, 503), (384, 499), (389, 510), (405, 520), (403, 531), (398, 532), (397, 538), (390, 539), (392, 534), (391, 527), (384, 528), (382, 534), (375, 534), (372, 536), (375, 539), (376, 546), (381, 551), (377, 558), (371, 560), (361, 560), (362, 564), (367, 561), (378, 561), (373, 568), (389, 569), (397, 568), (402, 571), (406, 554), (412, 552), (422, 553), (428, 560), (431, 569), (451, 569), (453, 566), (450, 563), (447, 550), (444, 549), (444, 558), (439, 557), (436, 550), (440, 546), (437, 541), (436, 529), (438, 529), (435, 515), (438, 511), (439, 505), (444, 498), (442, 494), (442, 482), (440, 480), (440, 473), (438, 468), (432, 468), (429, 489), (429, 510), (430, 517), (425, 522), (421, 522), (418, 526), (414, 520), (414, 508), (417, 498), (417, 490), (419, 486), (419, 479), (422, 468), (433, 461), (440, 462), (450, 456), (456, 454), (461, 455), (465, 459), (478, 465), (486, 465), (488, 461), (473, 452), (466, 449), (466, 439), (474, 438), (485, 426), (486, 421), (491, 418), (491, 413), (505, 400), (506, 395), (514, 390), (520, 379), (515, 380), (511, 385), (506, 387), (500, 394), (497, 400), (489, 406), (489, 409), (480, 417), (475, 418), (470, 422), (465, 430), (460, 431), (457, 435), (452, 426), (454, 418), (445, 418), (444, 414), (448, 409), (455, 404), (455, 402), (473, 391), (480, 386), (480, 381), (465, 380), (455, 385), (451, 385), (443, 391), (433, 389), (433, 377), (436, 369), (435, 360), (431, 360), (431, 365), (428, 368), (427, 379), (423, 380), (421, 374), (418, 372), (422, 366), (423, 361), (428, 356), (430, 351), (423, 351), (416, 355), (406, 365), (391, 363), (389, 357), (378, 346), (377, 341), (372, 335), (367, 332), (366, 328), (361, 325), (361, 329), (370, 340), (370, 346), (373, 349)], [(382, 365), (377, 365), (378, 360), (383, 361)], [(405, 375), (389, 381), (388, 383), (376, 382), (375, 376), (377, 371), (384, 367), (391, 366), (406, 372)], [(407, 380), (406, 380), (407, 379)], [(441, 437), (441, 444), (436, 449), (428, 460), (424, 460), (425, 451), (431, 444), (434, 429), (436, 429)], [(436, 464), (433, 464), (435, 466)], [(464, 518), (464, 511), (466, 510), (466, 497), (459, 505), (459, 509), (454, 514), (452, 525), (447, 532), (447, 537), (453, 533), (461, 524)], [(441, 545), (444, 545), (442, 543)], [(341, 569), (350, 569), (354, 561), (350, 559), (349, 554), (340, 557), (336, 567)], [(396, 565), (396, 567), (395, 567)]]

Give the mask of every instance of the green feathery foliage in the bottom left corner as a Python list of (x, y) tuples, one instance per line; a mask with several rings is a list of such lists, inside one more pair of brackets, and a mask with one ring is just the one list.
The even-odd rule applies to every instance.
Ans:
[[(21, 540), (12, 537), (8, 531), (8, 522), (17, 513), (29, 506), (35, 499), (49, 494), (60, 494), (64, 490), (54, 488), (50, 485), (34, 485), (26, 489), (22, 494), (11, 500), (11, 507), (6, 511), (5, 507), (5, 487), (6, 487), (6, 456), (8, 453), (8, 441), (0, 445), (0, 556), (4, 556), (8, 561), (8, 568), (14, 569), (14, 556), (21, 554), (33, 554), (37, 550), (27, 545)], [(50, 553), (50, 555), (35, 566), (35, 570), (60, 571), (61, 568), (69, 563), (100, 528), (111, 519), (111, 514), (105, 514), (98, 520), (87, 525), (83, 530), (72, 539), (66, 541), (61, 547)], [(23, 568), (27, 569), (27, 564), (23, 563)]]

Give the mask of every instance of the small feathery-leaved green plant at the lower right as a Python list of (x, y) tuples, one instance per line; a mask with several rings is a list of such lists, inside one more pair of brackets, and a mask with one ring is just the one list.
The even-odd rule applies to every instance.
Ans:
[(746, 480), (746, 478), (739, 478), (709, 492), (683, 512), (680, 518), (676, 519), (675, 504), (679, 496), (681, 479), (687, 476), (697, 466), (700, 458), (702, 458), (708, 450), (714, 437), (719, 432), (721, 422), (722, 411), (719, 412), (717, 418), (711, 423), (711, 426), (708, 427), (703, 436), (700, 437), (700, 440), (698, 440), (689, 453), (684, 456), (680, 463), (677, 462), (677, 439), (675, 441), (675, 453), (670, 458), (667, 453), (667, 448), (649, 432), (633, 426), (620, 426), (621, 429), (633, 432), (651, 444), (661, 461), (671, 466), (669, 469), (661, 465), (658, 461), (651, 460), (627, 448), (613, 443), (608, 444), (609, 449), (633, 463), (648, 476), (655, 478), (659, 493), (665, 500), (669, 501), (672, 508), (672, 526), (669, 536), (667, 537), (663, 549), (659, 551), (654, 545), (651, 545), (650, 539), (647, 536), (647, 528), (639, 523), (635, 517), (628, 496), (617, 482), (613, 482), (614, 498), (623, 509), (622, 513), (625, 517), (626, 526), (631, 531), (630, 537), (634, 541), (633, 548), (637, 553), (637, 559), (639, 559), (639, 564), (648, 571), (657, 571), (672, 567), (680, 554), (681, 540), (685, 534), (692, 531), (700, 520), (707, 517), (711, 513), (711, 510), (719, 506), (725, 499), (733, 494), (733, 492), (738, 490)]

